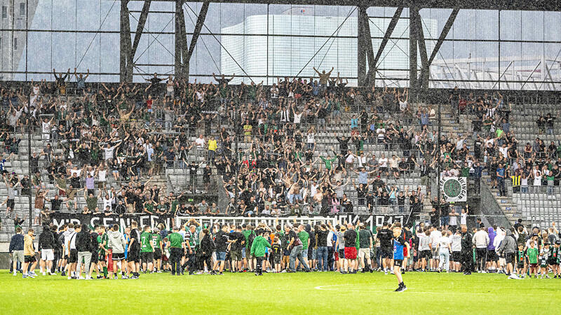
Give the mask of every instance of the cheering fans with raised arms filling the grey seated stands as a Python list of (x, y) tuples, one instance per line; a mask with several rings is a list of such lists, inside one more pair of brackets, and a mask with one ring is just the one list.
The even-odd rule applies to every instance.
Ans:
[[(318, 71), (317, 80), (278, 79), (269, 87), (229, 85), (224, 76), (215, 76), (217, 83), (189, 83), (156, 73), (147, 85), (107, 86), (86, 84), (88, 75), (76, 69), (53, 72), (55, 83), (1, 90), (6, 216), (15, 195), (32, 194), (35, 224), (55, 211), (416, 215), (438, 162), (441, 176), (471, 177), (477, 187), (487, 169), (501, 195), (508, 178), (524, 191), (528, 179), (553, 186), (561, 176), (553, 142), (546, 149), (536, 139), (520, 152), (510, 130), (511, 104), (499, 93), (474, 97), (455, 89), (450, 95), (452, 119), (475, 115), (471, 150), (468, 132), (442, 133), (438, 141), (431, 127), (435, 109), (415, 109), (407, 89), (346, 87), (331, 71)], [(543, 118), (548, 132), (553, 120)], [(5, 166), (18, 160), (16, 132), (27, 128), (44, 144), (32, 148), (31, 178)], [(337, 148), (325, 139), (337, 139)], [(374, 148), (383, 148), (379, 156)], [(189, 172), (189, 187), (168, 192), (166, 185), (149, 185), (168, 168)], [(417, 174), (421, 185), (400, 181)], [(189, 204), (180, 198), (185, 193), (226, 193), (231, 201), (226, 207)]]

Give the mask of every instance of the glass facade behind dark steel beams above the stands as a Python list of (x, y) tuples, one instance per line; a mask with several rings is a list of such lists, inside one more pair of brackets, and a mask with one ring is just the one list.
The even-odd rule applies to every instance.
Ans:
[[(53, 80), (90, 70), (90, 81), (119, 80), (121, 1), (0, 0), (0, 77)], [(131, 38), (143, 1), (128, 3)], [(202, 3), (184, 3), (190, 44)], [(396, 8), (367, 9), (374, 54)], [(428, 56), (451, 9), (419, 11)], [(403, 10), (378, 64), (377, 85), (409, 84), (409, 18)], [(353, 6), (210, 3), (189, 73), (209, 82), (224, 73), (248, 82), (311, 76), (331, 69), (357, 82), (358, 10)], [(561, 13), (459, 10), (431, 64), (431, 87), (561, 89)], [(153, 1), (134, 58), (134, 80), (174, 72), (175, 2)], [(421, 67), (420, 58), (419, 69)], [(191, 79), (192, 80), (192, 79)]]

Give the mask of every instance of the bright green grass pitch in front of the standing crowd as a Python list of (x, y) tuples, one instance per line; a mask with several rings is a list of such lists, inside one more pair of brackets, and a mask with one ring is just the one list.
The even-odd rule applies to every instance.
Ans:
[[(138, 280), (22, 279), (0, 272), (2, 314), (556, 314), (561, 279), (501, 274), (141, 274)], [(383, 312), (383, 313), (380, 313)]]

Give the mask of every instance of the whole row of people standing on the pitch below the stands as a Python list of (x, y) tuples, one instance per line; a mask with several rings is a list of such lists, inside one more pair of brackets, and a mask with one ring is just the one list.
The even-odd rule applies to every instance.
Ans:
[[(325, 223), (257, 226), (215, 223), (191, 218), (170, 230), (159, 224), (126, 227), (63, 224), (43, 225), (24, 236), (18, 227), (9, 251), (13, 275), (37, 276), (36, 253), (43, 276), (60, 272), (68, 279), (138, 279), (140, 273), (182, 275), (230, 272), (498, 272), (509, 279), (561, 279), (560, 233), (555, 223), (548, 230), (513, 228), (478, 222), (471, 231), (419, 223), (412, 228), (383, 223), (369, 230), (364, 223)], [(123, 228), (123, 232), (121, 232)], [(37, 242), (37, 247), (34, 245)], [(396, 243), (397, 242), (397, 243)], [(403, 249), (396, 252), (396, 246)], [(403, 252), (403, 253), (402, 253)], [(83, 272), (83, 274), (82, 274)]]

